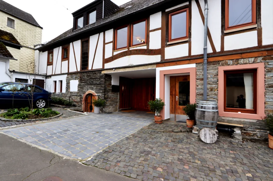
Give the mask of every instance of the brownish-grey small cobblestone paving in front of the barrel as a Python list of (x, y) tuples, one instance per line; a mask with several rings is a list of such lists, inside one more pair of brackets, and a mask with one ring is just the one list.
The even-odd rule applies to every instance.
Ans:
[[(164, 123), (162, 125), (165, 125)], [(219, 135), (206, 144), (193, 133), (140, 129), (85, 161), (143, 181), (273, 180), (273, 150), (263, 143), (239, 143)]]

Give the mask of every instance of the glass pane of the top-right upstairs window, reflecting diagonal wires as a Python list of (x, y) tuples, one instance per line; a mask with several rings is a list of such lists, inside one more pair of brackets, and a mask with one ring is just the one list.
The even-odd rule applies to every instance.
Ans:
[(229, 27), (252, 22), (252, 0), (229, 0)]

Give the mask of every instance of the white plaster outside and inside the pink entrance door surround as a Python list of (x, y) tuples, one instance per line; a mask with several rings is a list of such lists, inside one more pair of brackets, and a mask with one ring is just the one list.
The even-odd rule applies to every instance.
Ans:
[[(156, 68), (156, 85), (155, 85), (155, 96), (156, 98), (160, 97), (160, 71), (161, 70), (172, 70), (172, 69), (185, 69), (185, 68), (193, 68), (196, 67), (195, 64), (187, 64), (187, 65), (176, 65), (176, 66), (169, 66), (169, 67), (159, 67)], [(170, 118), (170, 76), (165, 76), (165, 119)]]

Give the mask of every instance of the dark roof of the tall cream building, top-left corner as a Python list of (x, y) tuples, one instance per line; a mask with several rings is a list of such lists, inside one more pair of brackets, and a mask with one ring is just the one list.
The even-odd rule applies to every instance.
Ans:
[(8, 14), (10, 14), (18, 19), (21, 19), (25, 22), (28, 22), (34, 26), (38, 26), (38, 27), (42, 28), (31, 14), (24, 12), (21, 9), (16, 8), (15, 6), (10, 5), (9, 3), (7, 3), (3, 0), (0, 0), (0, 11), (8, 13)]

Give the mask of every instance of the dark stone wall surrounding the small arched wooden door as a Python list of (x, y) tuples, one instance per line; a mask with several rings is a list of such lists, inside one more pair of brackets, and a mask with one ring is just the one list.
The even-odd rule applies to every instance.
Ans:
[[(79, 80), (78, 92), (70, 91), (70, 80)], [(53, 93), (53, 96), (69, 99), (71, 95), (77, 95), (71, 97), (76, 102), (83, 100), (85, 92), (93, 89), (94, 92), (101, 99), (106, 100), (106, 105), (101, 107), (103, 112), (116, 112), (118, 111), (118, 92), (112, 92), (112, 77), (108, 74), (102, 74), (101, 71), (93, 72), (80, 72), (68, 74), (66, 77), (66, 93)], [(71, 100), (71, 99), (70, 99)], [(82, 106), (78, 103), (78, 106)]]

